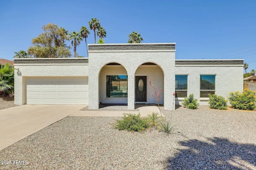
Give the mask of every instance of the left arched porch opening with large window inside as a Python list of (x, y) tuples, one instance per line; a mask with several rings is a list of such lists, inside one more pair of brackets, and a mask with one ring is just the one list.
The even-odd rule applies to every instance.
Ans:
[(124, 105), (128, 102), (127, 71), (119, 63), (105, 64), (99, 73), (100, 108), (113, 105)]

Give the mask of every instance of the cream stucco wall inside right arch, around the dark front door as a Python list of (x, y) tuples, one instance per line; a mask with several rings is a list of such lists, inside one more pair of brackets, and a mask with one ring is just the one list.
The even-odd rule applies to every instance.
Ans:
[[(164, 73), (158, 65), (141, 65), (135, 72), (135, 76), (147, 76), (147, 80), (151, 77), (151, 83), (157, 88), (156, 93), (161, 89), (159, 104), (164, 104)], [(156, 103), (156, 100), (152, 96), (154, 88), (146, 82), (147, 86), (147, 102)]]

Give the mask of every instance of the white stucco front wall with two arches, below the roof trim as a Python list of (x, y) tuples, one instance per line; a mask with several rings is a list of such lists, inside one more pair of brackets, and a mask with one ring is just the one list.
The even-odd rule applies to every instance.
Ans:
[[(119, 63), (134, 77), (143, 63), (156, 63), (164, 72), (164, 109), (172, 109), (172, 93), (175, 88), (175, 50), (90, 50), (89, 45), (89, 109), (99, 107), (99, 73), (108, 63)], [(134, 109), (134, 79), (128, 80), (128, 109)], [(132, 92), (132, 93), (130, 93)]]

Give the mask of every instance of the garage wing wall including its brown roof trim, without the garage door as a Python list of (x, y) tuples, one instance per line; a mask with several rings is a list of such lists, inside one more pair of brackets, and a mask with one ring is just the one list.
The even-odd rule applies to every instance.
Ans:
[(14, 59), (14, 104), (26, 102), (26, 77), (88, 76), (88, 58)]

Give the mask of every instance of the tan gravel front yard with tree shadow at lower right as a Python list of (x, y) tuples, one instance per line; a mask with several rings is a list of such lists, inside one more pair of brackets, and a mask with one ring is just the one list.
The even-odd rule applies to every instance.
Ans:
[[(255, 170), (256, 111), (163, 111), (177, 130), (130, 133), (118, 117), (66, 117), (0, 151), (1, 169)], [(172, 116), (172, 117), (171, 117)]]

